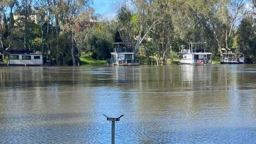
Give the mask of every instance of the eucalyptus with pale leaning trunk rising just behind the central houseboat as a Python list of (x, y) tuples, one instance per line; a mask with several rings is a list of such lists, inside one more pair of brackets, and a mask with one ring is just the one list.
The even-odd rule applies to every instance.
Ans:
[[(118, 26), (120, 35), (124, 41), (132, 46), (135, 41), (135, 53), (138, 52), (142, 41), (147, 37), (148, 32), (160, 23), (163, 17), (153, 16), (153, 1), (133, 0), (132, 5), (124, 3), (118, 11)], [(133, 10), (131, 10), (133, 8)]]

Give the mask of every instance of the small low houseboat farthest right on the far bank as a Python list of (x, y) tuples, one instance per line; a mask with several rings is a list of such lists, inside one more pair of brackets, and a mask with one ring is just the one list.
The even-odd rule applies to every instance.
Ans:
[(221, 64), (243, 64), (243, 53), (234, 52), (234, 48), (222, 48), (221, 50)]

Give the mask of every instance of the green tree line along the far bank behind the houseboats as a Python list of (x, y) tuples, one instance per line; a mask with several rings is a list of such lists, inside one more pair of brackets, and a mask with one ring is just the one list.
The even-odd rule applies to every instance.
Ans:
[(90, 0), (1, 0), (0, 52), (41, 51), (57, 65), (79, 66), (82, 56), (110, 57), (111, 43), (126, 41), (150, 63), (166, 64), (182, 44), (206, 42), (245, 53), (256, 62), (255, 0), (123, 0), (114, 20), (102, 20)]

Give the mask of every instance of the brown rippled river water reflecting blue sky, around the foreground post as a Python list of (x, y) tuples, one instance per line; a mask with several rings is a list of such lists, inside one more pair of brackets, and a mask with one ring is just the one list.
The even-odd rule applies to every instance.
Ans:
[(0, 143), (255, 143), (256, 65), (0, 67)]

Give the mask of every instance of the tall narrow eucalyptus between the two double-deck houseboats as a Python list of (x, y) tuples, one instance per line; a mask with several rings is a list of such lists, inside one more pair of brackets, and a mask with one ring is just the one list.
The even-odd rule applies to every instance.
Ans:
[(149, 10), (150, 17), (152, 17), (151, 22), (156, 20), (157, 17), (160, 18), (158, 19), (158, 25), (154, 26), (150, 31), (158, 65), (160, 64), (160, 57), (162, 57), (162, 63), (166, 64), (166, 58), (171, 52), (174, 38), (171, 8), (170, 1), (158, 0), (151, 3)]

